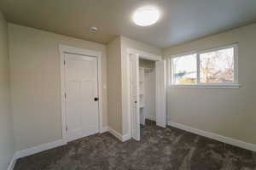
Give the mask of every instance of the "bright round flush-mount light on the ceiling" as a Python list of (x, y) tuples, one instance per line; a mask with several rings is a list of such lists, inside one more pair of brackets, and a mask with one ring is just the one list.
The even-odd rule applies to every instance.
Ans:
[(132, 20), (138, 26), (150, 26), (156, 23), (160, 18), (160, 12), (154, 7), (138, 8), (133, 14)]

